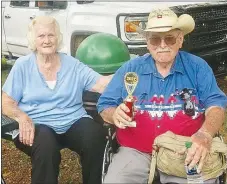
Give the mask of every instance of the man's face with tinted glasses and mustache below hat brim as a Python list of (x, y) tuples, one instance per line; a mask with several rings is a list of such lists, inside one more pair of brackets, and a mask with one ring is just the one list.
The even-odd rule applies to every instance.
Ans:
[(183, 33), (171, 30), (165, 33), (151, 33), (146, 36), (147, 48), (158, 63), (172, 63), (183, 44)]

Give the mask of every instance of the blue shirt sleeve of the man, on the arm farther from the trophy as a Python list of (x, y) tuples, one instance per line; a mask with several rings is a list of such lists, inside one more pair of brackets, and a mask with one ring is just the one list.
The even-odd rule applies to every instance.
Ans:
[(200, 103), (208, 109), (211, 106), (226, 108), (227, 97), (218, 87), (210, 66), (205, 63), (197, 73), (197, 85)]

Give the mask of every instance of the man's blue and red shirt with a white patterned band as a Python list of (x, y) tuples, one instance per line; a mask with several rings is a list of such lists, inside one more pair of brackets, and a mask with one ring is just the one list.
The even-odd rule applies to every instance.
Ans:
[(165, 78), (156, 69), (150, 54), (125, 63), (101, 95), (97, 108), (101, 112), (117, 107), (127, 97), (124, 76), (138, 75), (133, 93), (136, 98), (136, 127), (117, 129), (121, 146), (150, 153), (156, 136), (170, 130), (191, 136), (204, 122), (204, 111), (211, 106), (226, 108), (226, 95), (217, 86), (209, 65), (201, 58), (179, 51)]

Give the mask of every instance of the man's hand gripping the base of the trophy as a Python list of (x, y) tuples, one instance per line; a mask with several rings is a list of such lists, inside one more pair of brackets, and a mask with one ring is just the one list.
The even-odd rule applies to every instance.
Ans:
[(113, 120), (118, 128), (125, 129), (132, 121), (132, 118), (126, 114), (129, 111), (129, 108), (124, 103), (120, 104), (114, 111)]

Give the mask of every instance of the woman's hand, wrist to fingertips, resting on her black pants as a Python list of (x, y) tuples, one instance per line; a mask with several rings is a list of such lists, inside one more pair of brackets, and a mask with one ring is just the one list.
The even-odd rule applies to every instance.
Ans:
[(27, 115), (19, 120), (19, 140), (25, 145), (32, 146), (35, 135), (35, 126)]

